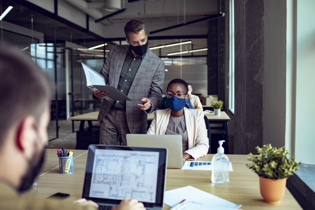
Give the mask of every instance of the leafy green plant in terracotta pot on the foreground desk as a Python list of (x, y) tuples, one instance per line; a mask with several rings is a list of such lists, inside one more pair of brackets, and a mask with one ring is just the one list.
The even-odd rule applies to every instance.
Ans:
[(299, 170), (301, 162), (295, 162), (285, 147), (272, 147), (271, 144), (256, 147), (259, 155), (249, 153), (246, 166), (259, 176), (260, 193), (264, 201), (277, 204), (284, 196), (285, 185), (289, 176)]

